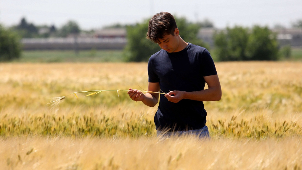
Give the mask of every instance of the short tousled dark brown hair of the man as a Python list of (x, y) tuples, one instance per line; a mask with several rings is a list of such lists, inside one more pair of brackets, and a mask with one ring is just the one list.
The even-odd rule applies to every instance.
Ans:
[(160, 43), (159, 39), (164, 38), (165, 35), (174, 36), (175, 28), (177, 25), (172, 14), (169, 12), (157, 13), (149, 20), (147, 39)]

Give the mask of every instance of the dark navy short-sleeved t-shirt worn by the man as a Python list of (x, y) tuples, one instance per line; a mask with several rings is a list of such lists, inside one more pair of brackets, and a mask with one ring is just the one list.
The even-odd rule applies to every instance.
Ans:
[[(148, 62), (149, 82), (159, 82), (160, 90), (165, 93), (173, 90), (204, 90), (203, 77), (216, 74), (210, 53), (206, 48), (194, 44), (188, 44), (184, 50), (175, 53), (160, 50)], [(201, 101), (183, 99), (172, 103), (161, 94), (154, 122), (157, 130), (192, 130), (204, 127), (206, 116)]]

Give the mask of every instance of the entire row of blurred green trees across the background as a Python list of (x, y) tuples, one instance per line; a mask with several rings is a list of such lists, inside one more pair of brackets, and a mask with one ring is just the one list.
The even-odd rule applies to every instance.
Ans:
[[(192, 23), (184, 17), (175, 17), (181, 37), (192, 44), (210, 48), (198, 38), (198, 31), (214, 24), (205, 19), (202, 22)], [(127, 30), (127, 45), (123, 50), (124, 61), (145, 62), (149, 57), (160, 50), (159, 46), (146, 39), (148, 20), (132, 25), (116, 24), (107, 28), (125, 28)], [(298, 20), (293, 27), (302, 28), (302, 20)], [(40, 30), (45, 30), (41, 32)], [(67, 37), (77, 35), (83, 30), (75, 21), (68, 21), (59, 29), (54, 25), (35, 26), (22, 18), (20, 23), (11, 28), (0, 24), (0, 61), (19, 58), (21, 55), (21, 38)], [(90, 32), (93, 32), (91, 30)], [(227, 27), (214, 34), (214, 51), (219, 61), (243, 60), (278, 60), (280, 48), (276, 35), (267, 26)], [(284, 55), (290, 54), (290, 47), (283, 49)]]

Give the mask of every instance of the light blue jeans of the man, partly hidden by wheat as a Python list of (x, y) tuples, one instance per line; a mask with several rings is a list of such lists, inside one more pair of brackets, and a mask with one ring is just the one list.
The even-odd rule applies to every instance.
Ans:
[(204, 126), (200, 129), (188, 130), (188, 131), (156, 131), (157, 137), (159, 138), (171, 138), (171, 137), (180, 137), (180, 136), (196, 136), (199, 139), (210, 138), (209, 129), (207, 126)]

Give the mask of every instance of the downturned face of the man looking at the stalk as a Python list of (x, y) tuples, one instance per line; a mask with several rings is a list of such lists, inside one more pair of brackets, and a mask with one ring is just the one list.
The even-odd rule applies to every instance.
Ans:
[(158, 45), (160, 48), (162, 48), (163, 50), (166, 50), (168, 53), (174, 53), (174, 52), (178, 52), (180, 51), (178, 49), (179, 46), (179, 39), (178, 39), (178, 29), (176, 28), (174, 31), (174, 35), (169, 34), (169, 35), (165, 35), (164, 38), (159, 39)]

